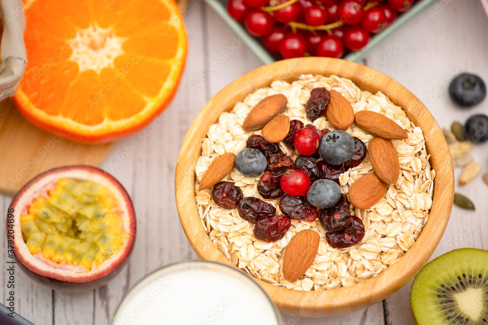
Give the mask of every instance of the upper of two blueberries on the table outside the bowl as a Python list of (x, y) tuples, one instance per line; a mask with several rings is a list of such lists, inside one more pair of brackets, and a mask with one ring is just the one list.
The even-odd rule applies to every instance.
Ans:
[(461, 107), (477, 105), (486, 95), (485, 82), (479, 76), (461, 74), (452, 79), (449, 85), (449, 96)]

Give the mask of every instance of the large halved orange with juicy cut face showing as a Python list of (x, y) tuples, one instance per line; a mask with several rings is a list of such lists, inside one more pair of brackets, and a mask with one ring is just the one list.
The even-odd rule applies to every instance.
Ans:
[(14, 101), (41, 129), (112, 141), (175, 95), (187, 38), (173, 0), (24, 0), (24, 9), (28, 62)]

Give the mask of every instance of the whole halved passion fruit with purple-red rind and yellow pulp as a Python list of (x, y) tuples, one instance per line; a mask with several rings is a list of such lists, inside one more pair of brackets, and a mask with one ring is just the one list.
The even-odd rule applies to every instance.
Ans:
[(113, 176), (95, 167), (39, 174), (14, 196), (9, 212), (7, 239), (14, 240), (18, 265), (54, 288), (104, 285), (120, 272), (134, 246), (132, 201)]

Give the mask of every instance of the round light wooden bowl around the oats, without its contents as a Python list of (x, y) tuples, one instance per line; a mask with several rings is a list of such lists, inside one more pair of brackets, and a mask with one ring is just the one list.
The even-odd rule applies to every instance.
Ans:
[(420, 271), (446, 229), (454, 195), (454, 174), (446, 140), (434, 117), (417, 97), (392, 78), (364, 65), (334, 58), (306, 57), (265, 65), (234, 80), (210, 99), (183, 140), (176, 167), (176, 204), (186, 237), (201, 258), (231, 265), (203, 230), (196, 208), (195, 165), (201, 154), (202, 139), (210, 126), (218, 121), (219, 115), (230, 111), (247, 94), (269, 86), (274, 80), (293, 81), (302, 74), (346, 77), (362, 90), (371, 93), (379, 90), (388, 96), (422, 129), (436, 172), (432, 209), (422, 233), (403, 257), (377, 276), (351, 287), (317, 292), (276, 287), (255, 279), (283, 313), (323, 317), (376, 304)]

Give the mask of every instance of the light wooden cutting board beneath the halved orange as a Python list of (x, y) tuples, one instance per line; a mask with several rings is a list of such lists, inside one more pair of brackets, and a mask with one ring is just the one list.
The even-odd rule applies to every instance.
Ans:
[(41, 131), (7, 98), (0, 102), (0, 192), (13, 195), (32, 177), (54, 167), (100, 166), (114, 146), (83, 145)]

